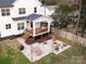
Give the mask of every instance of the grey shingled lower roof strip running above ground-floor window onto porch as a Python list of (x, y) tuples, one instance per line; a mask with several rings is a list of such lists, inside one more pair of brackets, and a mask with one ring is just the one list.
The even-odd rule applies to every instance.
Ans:
[(42, 15), (40, 15), (40, 14), (30, 14), (30, 15), (28, 15), (28, 16), (13, 17), (13, 20), (14, 20), (14, 21), (28, 20), (28, 21), (32, 22), (32, 21), (34, 21), (34, 20), (40, 17), (40, 16), (42, 16)]

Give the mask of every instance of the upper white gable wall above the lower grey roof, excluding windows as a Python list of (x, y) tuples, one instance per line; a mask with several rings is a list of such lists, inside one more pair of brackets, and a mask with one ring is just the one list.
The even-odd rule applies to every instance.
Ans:
[[(26, 8), (26, 14), (19, 14), (19, 8)], [(40, 2), (37, 0), (19, 0), (14, 3), (14, 8), (12, 9), (12, 17), (26, 16), (34, 13), (34, 8), (37, 8), (37, 14), (41, 14)]]

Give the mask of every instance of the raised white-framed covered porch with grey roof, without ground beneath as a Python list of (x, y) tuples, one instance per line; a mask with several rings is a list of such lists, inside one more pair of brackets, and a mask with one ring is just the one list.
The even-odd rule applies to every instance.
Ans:
[(52, 18), (39, 14), (30, 14), (27, 16), (27, 29), (33, 30), (33, 36), (42, 35), (50, 31)]

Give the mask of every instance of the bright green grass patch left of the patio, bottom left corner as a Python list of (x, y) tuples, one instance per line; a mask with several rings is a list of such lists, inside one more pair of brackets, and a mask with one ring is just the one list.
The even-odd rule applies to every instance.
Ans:
[(13, 61), (15, 60), (13, 55), (19, 59), (19, 61), (21, 62), (20, 64), (30, 64), (28, 59), (26, 59), (22, 52), (19, 51), (17, 53), (14, 53), (14, 50), (10, 47), (7, 48), (7, 55), (0, 56), (0, 64), (15, 64), (13, 63)]

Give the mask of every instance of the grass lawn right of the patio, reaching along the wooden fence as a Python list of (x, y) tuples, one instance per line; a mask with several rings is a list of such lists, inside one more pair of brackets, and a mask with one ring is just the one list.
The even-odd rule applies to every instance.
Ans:
[(58, 38), (72, 47), (60, 54), (51, 53), (33, 64), (86, 64), (86, 47), (79, 47), (63, 38)]

